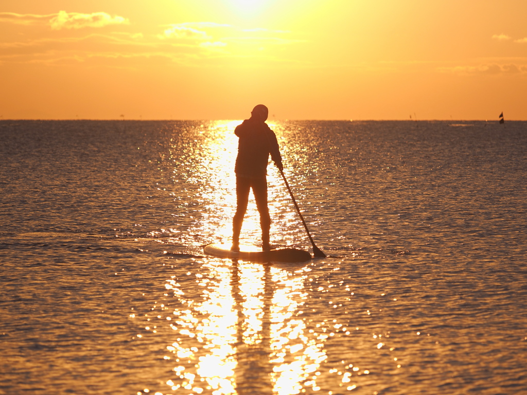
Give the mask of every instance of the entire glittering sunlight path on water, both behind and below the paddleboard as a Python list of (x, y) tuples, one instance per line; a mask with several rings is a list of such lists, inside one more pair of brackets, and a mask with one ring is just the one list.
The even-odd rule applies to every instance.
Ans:
[[(199, 215), (184, 214), (192, 220), (186, 233), (168, 228), (158, 231), (156, 237), (167, 235), (188, 245), (194, 242), (195, 234), (211, 242), (230, 241), (236, 210), (233, 169), (238, 144), (233, 130), (239, 123), (202, 125), (195, 144), (185, 147), (188, 157), (183, 163), (187, 171), (183, 176), (181, 169), (174, 168), (174, 181), (184, 179), (192, 186), (189, 193), (193, 191), (192, 200), (199, 208)], [(280, 131), (277, 135), (280, 141)], [(194, 152), (198, 149), (199, 154)], [(174, 147), (173, 152), (180, 151)], [(286, 156), (298, 155), (295, 152), (290, 146), (284, 146)], [(301, 162), (299, 157), (295, 159)], [(285, 171), (287, 174), (287, 169)], [(296, 176), (298, 184), (307, 173), (300, 172)], [(293, 243), (298, 234), (298, 218), (295, 210), (287, 206), (291, 204), (290, 198), (281, 182), (280, 174), (269, 169), (271, 218), (277, 219), (274, 223), (279, 223), (284, 230), (280, 231), (281, 242)], [(240, 241), (254, 245), (260, 240), (260, 224), (256, 204), (252, 196), (250, 198)], [(267, 265), (208, 259), (199, 272), (186, 272), (189, 278), (195, 277), (196, 289), (191, 294), (183, 291), (188, 288), (182, 287), (175, 276), (168, 279), (165, 289), (181, 307), (166, 317), (157, 316), (174, 333), (174, 339), (166, 347), (168, 355), (164, 356), (167, 363), (172, 364), (174, 373), (174, 377), (166, 381), (167, 386), (172, 391), (210, 391), (214, 395), (251, 392), (253, 386), (278, 395), (309, 393), (323, 388), (326, 380), (323, 377), (328, 370), (337, 374), (343, 383), (350, 383), (352, 373), (346, 369), (351, 369), (352, 365), (340, 369), (322, 368), (328, 360), (324, 343), (339, 332), (349, 334), (346, 325), (337, 320), (315, 324), (302, 318), (308, 297), (304, 284), (308, 271), (302, 269), (292, 273)], [(318, 287), (318, 291), (333, 292), (335, 287), (336, 284), (328, 284)], [(343, 306), (334, 301), (330, 302), (331, 307)], [(152, 327), (149, 324), (147, 330)], [(358, 368), (353, 370), (358, 371)], [(349, 388), (355, 386), (350, 384)]]

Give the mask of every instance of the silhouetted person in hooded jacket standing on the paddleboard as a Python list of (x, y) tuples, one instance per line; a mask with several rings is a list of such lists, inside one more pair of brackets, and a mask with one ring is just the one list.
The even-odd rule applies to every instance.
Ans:
[(265, 123), (269, 111), (263, 104), (252, 109), (251, 117), (236, 126), (239, 137), (238, 156), (236, 158), (236, 214), (232, 221), (232, 248), (240, 249), (239, 239), (243, 216), (247, 210), (249, 190), (255, 195), (256, 206), (260, 213), (262, 229), (262, 250), (268, 251), (271, 217), (267, 207), (267, 164), (269, 154), (278, 169), (282, 170), (282, 157), (278, 149), (275, 133)]

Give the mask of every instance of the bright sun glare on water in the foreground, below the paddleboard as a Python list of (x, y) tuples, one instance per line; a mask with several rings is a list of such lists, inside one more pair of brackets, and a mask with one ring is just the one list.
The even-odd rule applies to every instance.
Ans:
[(185, 305), (169, 321), (180, 336), (167, 345), (165, 356), (175, 372), (167, 381), (171, 390), (235, 394), (258, 387), (278, 395), (317, 390), (314, 373), (327, 356), (325, 338), (313, 336), (295, 314), (305, 299), (305, 280), (305, 273), (291, 278), (270, 266), (211, 261), (200, 274), (201, 298), (194, 300), (168, 280), (165, 288)]

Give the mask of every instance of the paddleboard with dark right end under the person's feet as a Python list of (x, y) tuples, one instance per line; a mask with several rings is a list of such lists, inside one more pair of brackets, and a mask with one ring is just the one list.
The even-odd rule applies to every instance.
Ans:
[(206, 254), (219, 256), (220, 258), (241, 259), (252, 262), (306, 262), (311, 259), (307, 251), (294, 248), (279, 250), (259, 251), (249, 246), (240, 246), (240, 251), (231, 251), (227, 244), (209, 244), (203, 248)]

